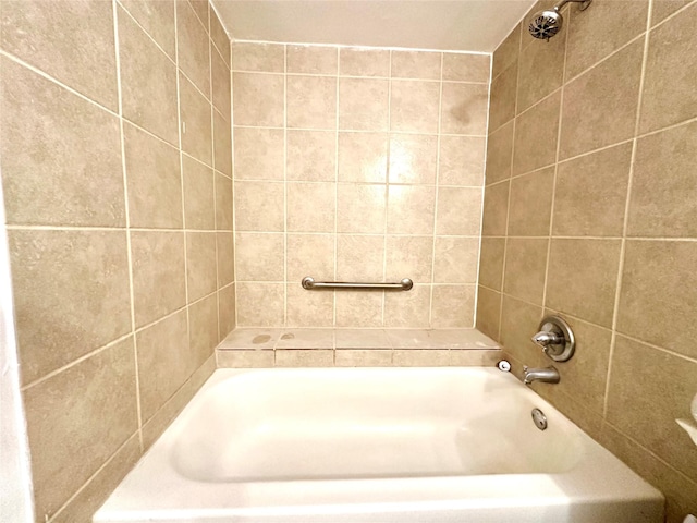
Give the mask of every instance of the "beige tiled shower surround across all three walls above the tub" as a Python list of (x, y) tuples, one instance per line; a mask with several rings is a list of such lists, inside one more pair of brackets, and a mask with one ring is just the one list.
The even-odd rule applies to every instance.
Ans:
[[(481, 194), (488, 135), (477, 326), (515, 364), (534, 364), (529, 333), (543, 313), (561, 312), (586, 341), (560, 365), (559, 386), (536, 390), (659, 487), (669, 521), (697, 512), (695, 450), (673, 421), (697, 388), (697, 332), (669, 324), (697, 303), (696, 9), (694, 0), (595, 0), (583, 16), (565, 14), (549, 44), (523, 34), (526, 17), (493, 56), (487, 129), (489, 75), (480, 62), (474, 77), (461, 76), (464, 65), (450, 62), (458, 53), (239, 44), (231, 61), (205, 1), (3, 1), (0, 161), (37, 521), (88, 521), (212, 372), (212, 346), (234, 326), (231, 64), (243, 324), (470, 325), (477, 276), (453, 260), (476, 267), (479, 229), (461, 214), (472, 216), (465, 196)], [(268, 59), (268, 47), (282, 59), (278, 50)], [(245, 100), (245, 81), (264, 104)], [(479, 89), (467, 98), (477, 131), (443, 127), (464, 107), (449, 109), (449, 90), (469, 86)], [(354, 94), (344, 111), (358, 114), (347, 127), (342, 93)], [(408, 159), (413, 150), (427, 167)], [(377, 180), (356, 151), (379, 160)], [(393, 161), (402, 155), (408, 171)], [(400, 181), (408, 172), (418, 178)], [(379, 187), (383, 207), (371, 197)], [(392, 192), (411, 203), (392, 208)], [(351, 219), (348, 194), (360, 204)], [(431, 231), (414, 208), (431, 216)], [(246, 242), (254, 235), (268, 238)], [(344, 269), (342, 253), (363, 243), (378, 246), (363, 252), (378, 253), (381, 273), (370, 257), (356, 266), (369, 273)], [(404, 273), (388, 253), (418, 270)], [(299, 289), (304, 276), (330, 279), (325, 271), (409, 277), (429, 289), (379, 297)], [(278, 300), (254, 308), (269, 295)]]

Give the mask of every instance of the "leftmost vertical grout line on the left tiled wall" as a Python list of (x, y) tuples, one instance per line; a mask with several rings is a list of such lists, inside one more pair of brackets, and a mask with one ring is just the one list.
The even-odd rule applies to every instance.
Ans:
[(117, 68), (117, 96), (119, 102), (119, 134), (121, 146), (121, 171), (123, 174), (123, 199), (126, 231), (126, 263), (129, 264), (129, 300), (131, 308), (131, 333), (133, 335), (133, 362), (135, 369), (136, 416), (138, 421), (138, 443), (143, 452), (143, 409), (140, 405), (140, 376), (138, 366), (138, 342), (135, 336), (135, 291), (133, 285), (133, 246), (131, 243), (131, 212), (129, 208), (129, 175), (126, 170), (125, 136), (123, 131), (123, 94), (121, 88), (121, 42), (119, 39), (119, 16), (117, 2), (111, 3), (113, 13), (114, 61)]

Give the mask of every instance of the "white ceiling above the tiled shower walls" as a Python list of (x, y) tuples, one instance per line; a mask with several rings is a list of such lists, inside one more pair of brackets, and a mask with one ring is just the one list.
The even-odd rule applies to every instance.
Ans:
[(212, 0), (235, 40), (491, 52), (535, 0)]

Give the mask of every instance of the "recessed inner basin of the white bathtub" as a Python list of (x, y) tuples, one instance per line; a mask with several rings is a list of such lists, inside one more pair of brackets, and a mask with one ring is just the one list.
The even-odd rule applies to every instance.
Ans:
[(542, 433), (530, 418), (536, 397), (481, 370), (240, 373), (186, 413), (172, 465), (191, 479), (242, 483), (573, 469), (577, 430), (550, 412)]

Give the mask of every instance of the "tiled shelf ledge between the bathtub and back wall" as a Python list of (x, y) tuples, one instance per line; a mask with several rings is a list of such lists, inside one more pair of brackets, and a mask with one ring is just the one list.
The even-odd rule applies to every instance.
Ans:
[(501, 346), (476, 329), (233, 330), (218, 367), (409, 367), (493, 365)]

